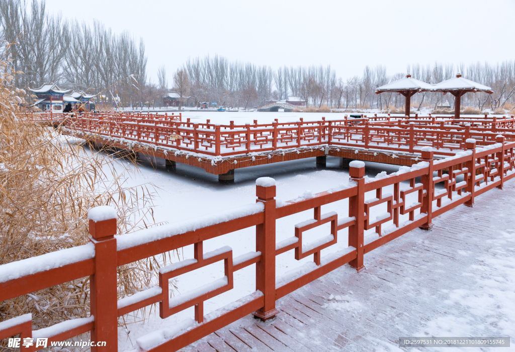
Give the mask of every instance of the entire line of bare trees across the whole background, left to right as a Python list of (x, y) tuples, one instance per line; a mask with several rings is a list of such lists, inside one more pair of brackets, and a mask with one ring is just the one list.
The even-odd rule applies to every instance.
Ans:
[[(230, 61), (225, 57), (190, 58), (174, 70), (168, 86), (165, 67), (158, 71), (158, 84), (147, 80), (147, 58), (142, 40), (138, 43), (128, 32), (114, 33), (99, 22), (93, 26), (67, 21), (60, 14), (50, 15), (45, 0), (0, 1), (0, 49), (15, 71), (19, 88), (58, 83), (63, 87), (91, 92), (105, 90), (107, 100), (118, 96), (124, 106), (156, 104), (169, 88), (179, 95), (180, 103), (198, 105), (216, 101), (218, 105), (254, 107), (269, 100), (299, 97), (308, 106), (381, 110), (399, 108), (404, 98), (394, 93), (375, 94), (381, 85), (401, 79), (406, 73), (389, 75), (384, 65), (366, 66), (361, 76), (337, 77), (331, 66), (293, 67), (274, 70), (270, 66)], [(14, 43), (14, 44), (9, 44)], [(427, 83), (463, 77), (490, 86), (494, 94), (466, 94), (464, 106), (482, 110), (515, 104), (515, 60), (498, 64), (413, 64), (407, 71)], [(121, 82), (132, 76), (135, 85)], [(443, 101), (454, 105), (454, 98), (437, 93), (420, 93), (412, 106), (437, 106)]]

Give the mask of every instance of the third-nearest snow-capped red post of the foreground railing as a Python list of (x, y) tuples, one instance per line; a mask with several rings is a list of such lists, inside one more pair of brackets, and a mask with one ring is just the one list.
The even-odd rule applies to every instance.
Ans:
[(349, 262), (349, 265), (361, 271), (364, 255), (364, 232), (365, 232), (365, 163), (354, 160), (349, 163), (349, 176), (351, 181), (357, 184), (357, 193), (349, 198), (349, 216), (355, 217), (354, 225), (349, 227), (349, 246), (356, 248), (357, 257)]

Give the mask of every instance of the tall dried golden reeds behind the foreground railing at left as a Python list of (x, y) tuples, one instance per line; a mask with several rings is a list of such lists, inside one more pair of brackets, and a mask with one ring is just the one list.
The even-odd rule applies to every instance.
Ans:
[[(87, 212), (111, 205), (118, 233), (146, 227), (152, 220), (147, 186), (124, 186), (134, 168), (95, 152), (53, 129), (23, 121), (22, 91), (0, 62), (0, 265), (88, 243)], [(125, 164), (126, 165), (126, 164)], [(164, 255), (163, 255), (164, 256)], [(118, 296), (152, 285), (168, 258), (149, 258), (118, 268)], [(89, 278), (64, 283), (0, 303), (0, 321), (32, 313), (35, 328), (85, 317)]]

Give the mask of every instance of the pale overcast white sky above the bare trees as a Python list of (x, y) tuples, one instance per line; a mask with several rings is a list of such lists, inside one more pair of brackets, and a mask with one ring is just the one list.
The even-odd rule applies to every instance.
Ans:
[(47, 11), (143, 38), (148, 75), (168, 80), (188, 57), (218, 54), (278, 68), (330, 64), (338, 76), (366, 65), (388, 74), (411, 63), (515, 59), (514, 0), (106, 1), (47, 0)]

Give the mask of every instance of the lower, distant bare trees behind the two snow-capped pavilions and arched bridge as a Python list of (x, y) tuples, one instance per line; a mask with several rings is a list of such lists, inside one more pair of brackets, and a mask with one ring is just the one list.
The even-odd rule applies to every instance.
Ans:
[[(463, 106), (494, 110), (515, 103), (515, 60), (496, 65), (413, 64), (408, 65), (407, 72), (416, 79), (432, 84), (453, 78), (459, 72), (463, 77), (490, 86), (494, 91), (492, 95), (466, 94), (461, 99)], [(158, 73), (162, 82), (164, 66)], [(231, 62), (215, 55), (188, 59), (174, 75), (174, 89), (181, 97), (190, 97), (195, 105), (203, 101), (216, 101), (219, 105), (234, 107), (262, 106), (269, 100), (287, 100), (294, 96), (306, 101), (308, 106), (388, 110), (403, 106), (404, 97), (397, 93), (376, 95), (375, 89), (405, 75), (404, 72), (388, 75), (386, 66), (377, 65), (366, 66), (362, 76), (344, 80), (336, 76), (331, 66), (284, 66), (272, 70), (267, 66)], [(421, 92), (411, 101), (416, 110), (422, 106), (437, 107), (445, 101), (454, 106), (454, 97), (441, 93)]]

